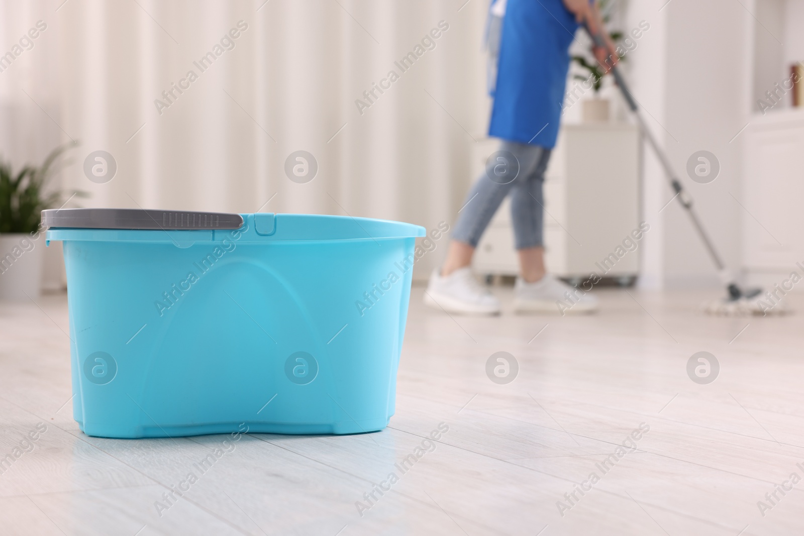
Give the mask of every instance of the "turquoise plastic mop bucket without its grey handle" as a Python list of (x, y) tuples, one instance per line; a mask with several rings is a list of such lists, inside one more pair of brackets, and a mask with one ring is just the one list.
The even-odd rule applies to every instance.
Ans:
[(47, 231), (47, 243), (64, 243), (73, 415), (84, 433), (347, 434), (388, 424), (425, 229), (242, 217), (235, 230)]

